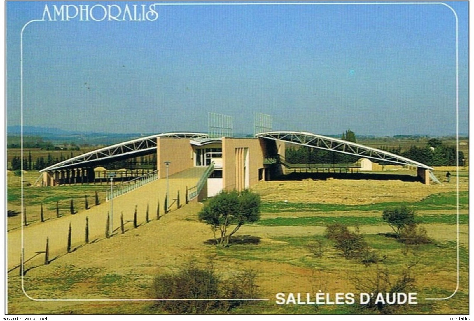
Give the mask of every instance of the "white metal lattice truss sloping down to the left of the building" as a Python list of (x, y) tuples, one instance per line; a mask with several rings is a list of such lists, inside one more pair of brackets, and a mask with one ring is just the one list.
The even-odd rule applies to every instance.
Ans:
[(156, 138), (158, 137), (200, 139), (208, 138), (208, 135), (201, 133), (164, 133), (141, 137), (63, 160), (59, 163), (46, 167), (45, 169), (41, 169), (40, 172), (47, 172), (57, 169), (91, 167), (114, 160), (122, 160), (151, 154), (156, 152)]

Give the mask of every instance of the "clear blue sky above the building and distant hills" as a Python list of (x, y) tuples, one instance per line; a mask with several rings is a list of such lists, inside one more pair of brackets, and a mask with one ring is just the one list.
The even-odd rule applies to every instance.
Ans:
[[(20, 123), (20, 31), (45, 4), (7, 2), (7, 119)], [(459, 18), (459, 131), (468, 132), (468, 3)], [(442, 4), (160, 5), (155, 21), (37, 21), (23, 35), (24, 125), (253, 132), (456, 133), (456, 20)]]

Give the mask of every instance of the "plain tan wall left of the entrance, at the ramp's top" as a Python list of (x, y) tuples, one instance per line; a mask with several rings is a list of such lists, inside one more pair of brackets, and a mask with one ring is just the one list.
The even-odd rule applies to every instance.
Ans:
[(168, 175), (173, 175), (193, 167), (192, 157), (193, 153), (189, 139), (164, 137), (156, 139), (158, 178), (166, 177), (166, 164), (164, 164), (164, 161), (171, 161)]

